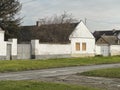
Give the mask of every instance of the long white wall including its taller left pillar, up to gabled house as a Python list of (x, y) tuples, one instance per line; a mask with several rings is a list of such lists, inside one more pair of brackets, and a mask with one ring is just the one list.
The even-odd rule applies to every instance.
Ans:
[(71, 54), (70, 44), (40, 44), (39, 40), (32, 41), (34, 47), (34, 55), (64, 55)]

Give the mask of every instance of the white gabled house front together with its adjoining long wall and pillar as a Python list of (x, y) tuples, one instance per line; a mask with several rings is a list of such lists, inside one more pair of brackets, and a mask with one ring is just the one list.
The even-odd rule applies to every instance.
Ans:
[(43, 44), (32, 40), (34, 58), (95, 56), (95, 38), (81, 21), (69, 35), (68, 44)]

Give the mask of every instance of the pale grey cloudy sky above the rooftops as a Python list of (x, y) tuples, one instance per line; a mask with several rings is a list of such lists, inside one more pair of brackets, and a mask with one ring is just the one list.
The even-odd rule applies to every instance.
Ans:
[(120, 29), (120, 0), (20, 0), (22, 25), (34, 25), (43, 17), (72, 13), (78, 20), (87, 18), (91, 30)]

